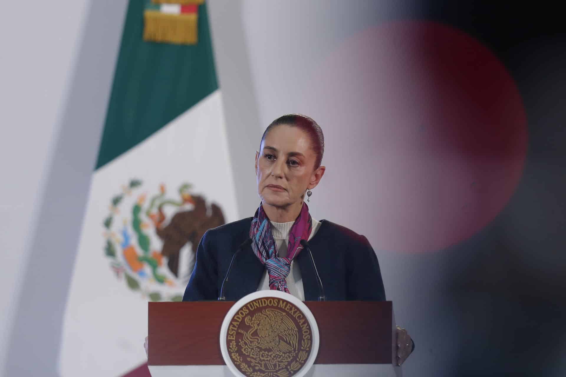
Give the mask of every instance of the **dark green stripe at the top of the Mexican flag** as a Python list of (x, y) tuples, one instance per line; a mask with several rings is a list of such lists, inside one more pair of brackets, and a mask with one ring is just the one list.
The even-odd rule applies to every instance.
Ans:
[(198, 10), (199, 42), (190, 46), (144, 42), (146, 6), (128, 5), (96, 169), (218, 89), (206, 5)]

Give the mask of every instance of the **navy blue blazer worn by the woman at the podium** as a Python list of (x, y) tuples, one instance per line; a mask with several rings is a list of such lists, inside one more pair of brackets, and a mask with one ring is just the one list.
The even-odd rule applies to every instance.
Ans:
[[(251, 217), (238, 220), (204, 233), (183, 301), (217, 300), (231, 258), (250, 237), (251, 220)], [(308, 244), (327, 300), (385, 301), (378, 258), (366, 237), (322, 220)], [(301, 268), (305, 300), (318, 300), (318, 284), (308, 253), (302, 250), (295, 259)], [(256, 292), (263, 274), (264, 266), (251, 246), (247, 246), (234, 259), (230, 279), (224, 287), (226, 300), (237, 301)]]

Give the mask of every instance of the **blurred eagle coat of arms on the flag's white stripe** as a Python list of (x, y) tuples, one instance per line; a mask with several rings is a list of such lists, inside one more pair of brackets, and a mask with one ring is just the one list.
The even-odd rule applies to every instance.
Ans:
[(156, 193), (132, 179), (109, 201), (103, 222), (104, 254), (118, 279), (151, 301), (181, 301), (204, 232), (225, 223), (220, 206), (207, 206), (183, 183), (175, 196), (166, 185)]

